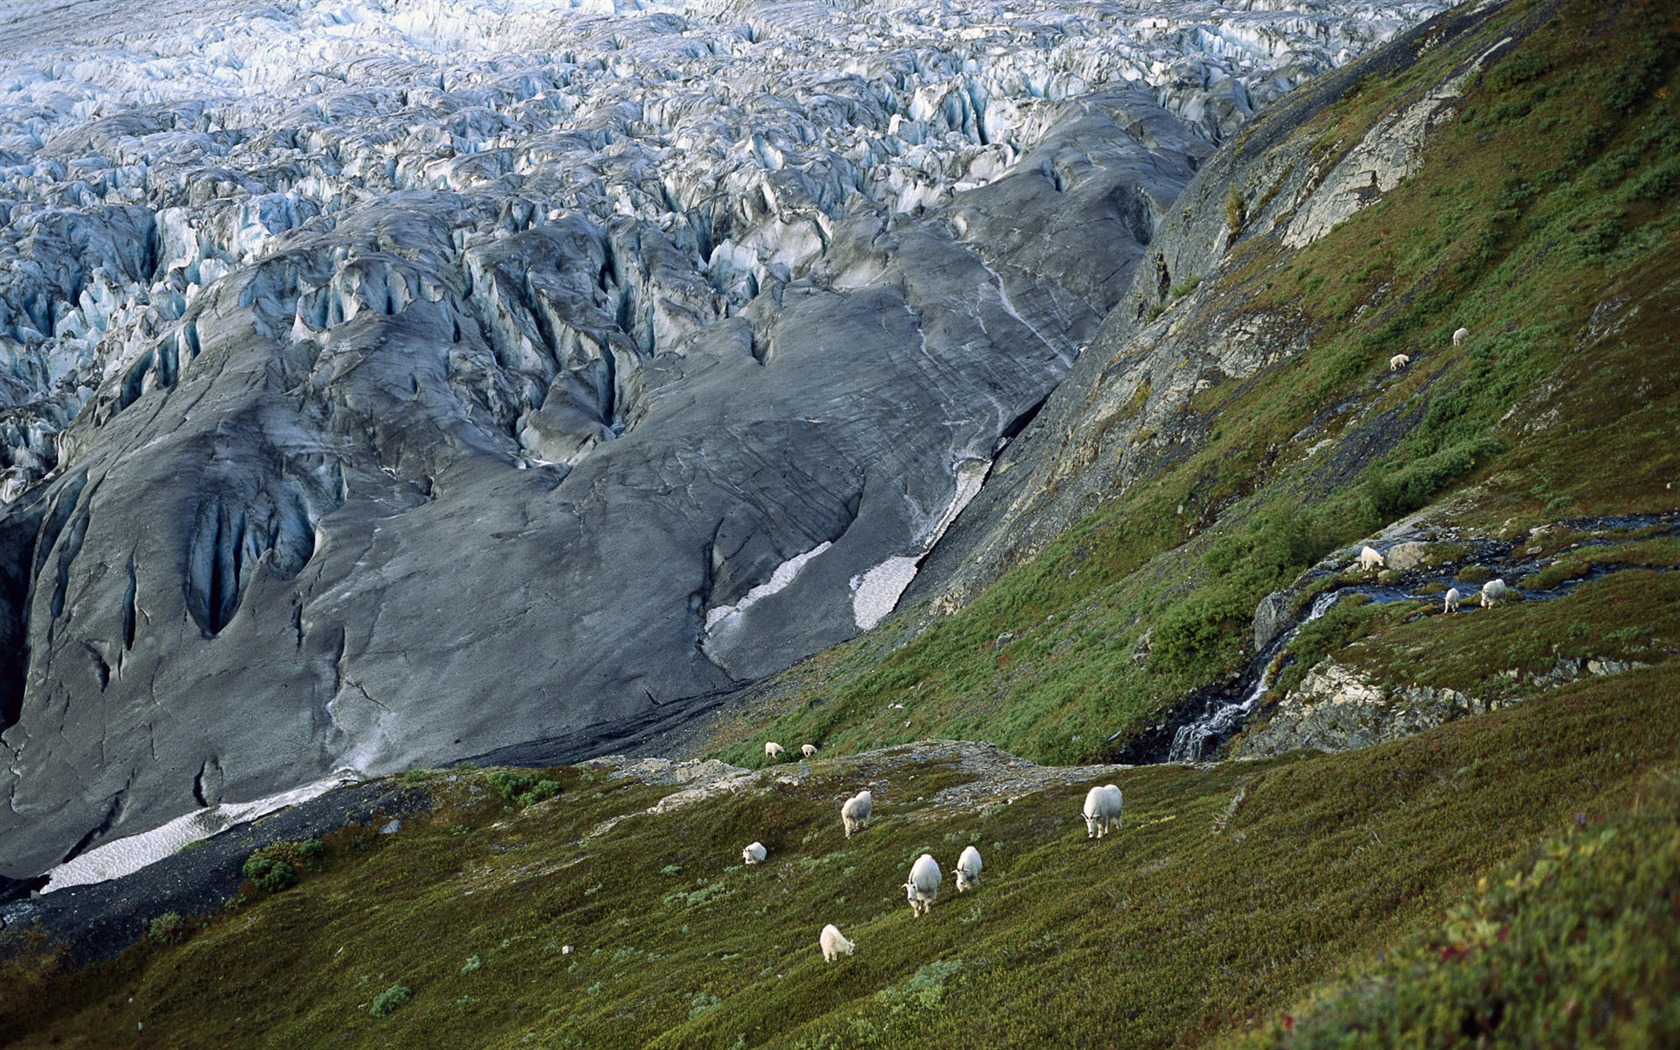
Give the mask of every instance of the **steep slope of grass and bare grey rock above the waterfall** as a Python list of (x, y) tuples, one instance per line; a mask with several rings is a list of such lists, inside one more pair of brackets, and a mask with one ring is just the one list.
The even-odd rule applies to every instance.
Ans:
[[(1171, 270), (1164, 297), (1146, 276), (1144, 301), (1109, 316), (1000, 467), (1001, 496), (983, 491), (929, 563), (949, 583), (763, 690), (714, 746), (937, 734), (1040, 761), (1164, 756), (1176, 724), (1253, 682), (1262, 600), (1299, 620), (1357, 583), (1337, 573), (1364, 543), (1421, 543), (1431, 563), (1383, 581), (1393, 615), (1362, 628), (1381, 630), (1440, 608), (1455, 578), (1473, 598), (1594, 531), (1672, 529), (1673, 32), (1641, 5), (1478, 5), (1396, 44), (1418, 55), (1403, 72), (1347, 71), (1299, 128), (1257, 121), (1186, 192), (1189, 232), (1158, 240), (1174, 260), (1218, 242), (1218, 265)], [(1376, 178), (1359, 143), (1408, 113), (1436, 124), (1415, 171), (1324, 232), (1336, 173)], [(1606, 521), (1626, 514), (1653, 517)], [(1504, 561), (1477, 561), (1488, 543)], [(984, 585), (988, 566), (1006, 571)], [(1638, 633), (1651, 610), (1609, 615), (1606, 632)], [(1591, 655), (1648, 645), (1675, 640)], [(1512, 667), (1480, 659), (1490, 679)]]

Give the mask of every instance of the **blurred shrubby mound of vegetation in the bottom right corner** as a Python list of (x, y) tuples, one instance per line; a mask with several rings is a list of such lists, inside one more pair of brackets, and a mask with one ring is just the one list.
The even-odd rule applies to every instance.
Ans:
[(1247, 1047), (1638, 1047), (1680, 1032), (1680, 781), (1658, 805), (1578, 816), (1346, 986)]

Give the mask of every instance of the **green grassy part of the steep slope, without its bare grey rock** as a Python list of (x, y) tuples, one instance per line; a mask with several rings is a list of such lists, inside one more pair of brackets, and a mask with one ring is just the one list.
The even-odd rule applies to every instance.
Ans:
[[(1680, 506), (1672, 5), (1514, 3), (1408, 72), (1361, 81), (1299, 136), (1309, 156), (1337, 156), (1537, 12), (1551, 17), (1472, 77), (1411, 178), (1300, 252), (1247, 220), (1226, 265), (1171, 304), (1159, 324), (1236, 312), (1309, 339), (1201, 391), (1184, 420), (1200, 447), (961, 612), (902, 612), (795, 669), (722, 721), (714, 753), (961, 736), (1038, 761), (1102, 758), (1112, 734), (1243, 665), (1262, 596), (1396, 519), (1426, 509), (1435, 528), (1509, 539)], [(1240, 190), (1236, 210), (1257, 215), (1277, 192)], [(1460, 326), (1473, 336), (1455, 346)], [(1391, 373), (1394, 353), (1411, 366)], [(1092, 430), (1094, 447), (1151, 440), (1124, 418)], [(1680, 559), (1670, 548), (1656, 563)], [(1650, 610), (1598, 612), (1613, 632)], [(1483, 657), (1488, 674), (1507, 667)]]

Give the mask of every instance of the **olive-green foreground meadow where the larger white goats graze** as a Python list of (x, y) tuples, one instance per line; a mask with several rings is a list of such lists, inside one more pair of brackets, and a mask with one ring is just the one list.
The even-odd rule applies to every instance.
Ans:
[[(1102, 780), (1126, 791), (1126, 827), (1100, 842), (1079, 820), (1084, 785), (976, 805), (966, 798), (1006, 786), (976, 783), (937, 749), (788, 763), (655, 815), (645, 810), (674, 788), (601, 769), (551, 771), (559, 795), (524, 806), (497, 791), (497, 774), (410, 774), (435, 795), (430, 818), (398, 835), (331, 835), (319, 860), (296, 857), (297, 885), (247, 887), (237, 906), (160, 929), (102, 971), (13, 966), (0, 974), (0, 1026), (15, 1047), (1158, 1047), (1258, 1035), (1253, 1025), (1294, 1016), (1349, 963), (1374, 964), (1396, 942), (1423, 946), (1403, 959), (1428, 956), (1443, 922), (1462, 922), (1448, 904), (1480, 879), (1500, 885), (1512, 864), (1532, 879), (1537, 843), (1564, 830), (1584, 828), (1566, 842), (1643, 842), (1635, 835), (1656, 822), (1668, 857), (1677, 684), (1650, 669), (1631, 689), (1579, 684), (1339, 756), (1116, 771)], [(847, 840), (838, 803), (864, 783), (875, 820)], [(613, 816), (625, 820), (596, 832)], [(751, 840), (771, 848), (768, 864), (741, 865)], [(978, 890), (958, 895), (948, 877), (932, 912), (912, 919), (900, 889), (911, 860), (926, 850), (949, 867), (968, 843), (986, 860)], [(1673, 867), (1645, 864), (1656, 870), (1635, 885), (1655, 879), (1650, 899), (1672, 897)], [(1567, 894), (1598, 900), (1620, 869), (1569, 879)], [(1546, 895), (1547, 907), (1572, 907), (1567, 894)], [(1672, 988), (1660, 959), (1680, 931), (1665, 909), (1640, 927), (1636, 954), (1651, 963), (1614, 971), (1641, 983), (1571, 1033), (1633, 1025), (1680, 1038), (1672, 1011), (1636, 1008)], [(823, 963), (825, 922), (855, 956)], [(1475, 944), (1499, 942), (1473, 929)], [(1569, 937), (1519, 948), (1542, 961), (1579, 954)], [(1393, 1010), (1423, 995), (1406, 981), (1428, 979), (1403, 969)], [(410, 998), (391, 1006), (391, 988)], [(1453, 988), (1468, 1011), (1522, 993)], [(1351, 1010), (1337, 1003), (1320, 1010)]]

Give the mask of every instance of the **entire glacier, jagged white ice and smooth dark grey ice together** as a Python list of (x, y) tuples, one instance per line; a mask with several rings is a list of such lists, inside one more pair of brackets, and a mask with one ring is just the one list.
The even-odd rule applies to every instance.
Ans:
[(875, 623), (1295, 7), (3, 5), (0, 874)]

